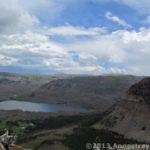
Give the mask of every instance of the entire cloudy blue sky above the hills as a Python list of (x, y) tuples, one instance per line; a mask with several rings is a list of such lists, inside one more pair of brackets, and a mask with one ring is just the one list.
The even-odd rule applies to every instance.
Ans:
[(0, 71), (150, 75), (149, 0), (0, 0)]

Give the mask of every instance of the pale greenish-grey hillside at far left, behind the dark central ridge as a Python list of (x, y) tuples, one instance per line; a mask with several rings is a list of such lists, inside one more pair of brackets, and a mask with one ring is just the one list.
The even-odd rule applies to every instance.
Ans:
[(0, 100), (15, 99), (16, 97), (28, 95), (41, 85), (51, 80), (64, 78), (63, 75), (36, 75), (0, 73)]

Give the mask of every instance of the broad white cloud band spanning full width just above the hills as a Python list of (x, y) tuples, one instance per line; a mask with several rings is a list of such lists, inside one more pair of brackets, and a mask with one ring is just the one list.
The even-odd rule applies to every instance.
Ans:
[[(31, 31), (0, 35), (0, 65), (38, 67), (64, 73), (148, 75), (150, 29), (118, 30), (67, 44)], [(77, 54), (75, 59), (70, 51)]]

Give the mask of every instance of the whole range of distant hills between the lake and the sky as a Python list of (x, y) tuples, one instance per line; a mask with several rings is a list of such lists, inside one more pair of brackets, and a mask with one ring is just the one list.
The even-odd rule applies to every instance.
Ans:
[(79, 104), (105, 111), (142, 77), (0, 73), (0, 100)]

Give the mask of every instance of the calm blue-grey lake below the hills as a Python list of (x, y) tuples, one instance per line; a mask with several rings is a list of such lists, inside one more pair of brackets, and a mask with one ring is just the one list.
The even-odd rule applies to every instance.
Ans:
[(32, 112), (59, 112), (59, 111), (85, 112), (87, 109), (79, 105), (32, 103), (13, 100), (0, 102), (0, 110), (22, 110)]

